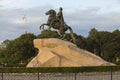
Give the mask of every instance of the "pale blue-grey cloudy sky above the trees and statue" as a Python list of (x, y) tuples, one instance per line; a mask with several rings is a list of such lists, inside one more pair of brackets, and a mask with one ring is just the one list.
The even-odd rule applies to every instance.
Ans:
[(40, 34), (39, 26), (48, 18), (45, 12), (58, 12), (59, 7), (63, 7), (65, 22), (78, 35), (87, 36), (92, 28), (120, 29), (120, 0), (0, 0), (0, 42), (25, 31)]

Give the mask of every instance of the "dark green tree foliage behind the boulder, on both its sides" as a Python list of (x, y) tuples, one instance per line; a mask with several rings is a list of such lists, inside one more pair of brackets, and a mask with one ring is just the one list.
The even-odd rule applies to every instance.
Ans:
[[(106, 61), (120, 64), (120, 31), (117, 29), (113, 32), (98, 31), (91, 29), (88, 37), (74, 34), (77, 39), (76, 45), (79, 48), (88, 50)], [(0, 48), (0, 63), (9, 62), (18, 64), (21, 61), (27, 63), (37, 53), (33, 46), (35, 38), (59, 38), (57, 31), (45, 30), (35, 36), (32, 33), (22, 34), (14, 40), (5, 40)], [(66, 40), (70, 41), (70, 34), (66, 34)]]

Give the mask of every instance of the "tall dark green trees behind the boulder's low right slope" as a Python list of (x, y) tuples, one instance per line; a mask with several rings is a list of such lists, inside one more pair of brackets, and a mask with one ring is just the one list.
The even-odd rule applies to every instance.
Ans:
[[(88, 38), (94, 46), (90, 50), (95, 50), (97, 55), (106, 61), (120, 64), (120, 31), (117, 29), (113, 32), (97, 31), (92, 29)], [(94, 51), (94, 52), (95, 52)], [(116, 62), (116, 59), (119, 59)]]

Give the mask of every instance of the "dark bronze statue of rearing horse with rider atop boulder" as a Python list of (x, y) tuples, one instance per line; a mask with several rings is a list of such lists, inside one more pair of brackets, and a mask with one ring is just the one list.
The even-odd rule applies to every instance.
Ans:
[(48, 26), (48, 29), (50, 30), (51, 28), (53, 29), (57, 29), (60, 33), (60, 38), (61, 39), (64, 39), (66, 34), (65, 32), (67, 30), (70, 31), (70, 35), (71, 35), (71, 38), (72, 38), (72, 41), (74, 43), (76, 43), (76, 39), (74, 37), (74, 33), (73, 33), (73, 30), (70, 26), (68, 26), (65, 22), (64, 22), (64, 19), (63, 19), (63, 15), (62, 15), (62, 8), (60, 7), (60, 12), (57, 14), (56, 16), (56, 11), (53, 10), (53, 9), (50, 9), (49, 11), (47, 11), (45, 13), (46, 15), (49, 15), (48, 17), (48, 21), (47, 23), (43, 23), (41, 26), (40, 26), (40, 30), (43, 29), (44, 30), (44, 26)]

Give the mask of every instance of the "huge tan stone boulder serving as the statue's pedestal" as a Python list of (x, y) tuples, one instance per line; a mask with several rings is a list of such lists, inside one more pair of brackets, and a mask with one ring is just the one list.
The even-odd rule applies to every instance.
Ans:
[(78, 48), (71, 42), (56, 38), (35, 39), (39, 53), (27, 67), (80, 67), (113, 65), (95, 54)]

